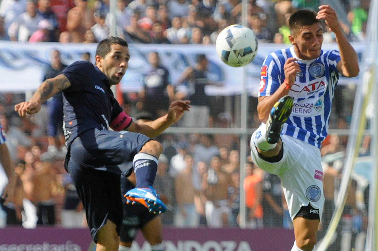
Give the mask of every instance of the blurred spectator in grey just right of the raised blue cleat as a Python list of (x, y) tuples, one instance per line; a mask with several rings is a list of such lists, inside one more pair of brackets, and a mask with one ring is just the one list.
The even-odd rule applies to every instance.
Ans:
[(168, 168), (169, 160), (167, 156), (161, 154), (158, 162), (158, 172), (156, 173), (153, 187), (162, 198), (163, 196), (166, 198), (164, 203), (167, 206), (167, 211), (161, 216), (161, 223), (163, 223), (163, 225), (170, 225), (173, 223), (173, 209), (177, 203), (175, 196), (175, 181), (174, 178), (168, 175)]

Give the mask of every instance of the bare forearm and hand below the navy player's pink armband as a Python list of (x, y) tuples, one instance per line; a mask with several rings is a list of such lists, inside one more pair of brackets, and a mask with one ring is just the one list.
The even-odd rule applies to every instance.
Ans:
[(173, 101), (170, 103), (166, 115), (161, 116), (154, 121), (144, 122), (143, 124), (132, 122), (127, 130), (129, 132), (137, 132), (153, 138), (170, 127), (174, 122), (177, 122), (184, 115), (185, 111), (189, 111), (189, 103), (190, 101), (188, 100)]

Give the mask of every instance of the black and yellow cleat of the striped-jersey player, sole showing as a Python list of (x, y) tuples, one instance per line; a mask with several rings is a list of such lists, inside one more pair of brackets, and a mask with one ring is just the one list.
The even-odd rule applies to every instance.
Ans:
[(284, 96), (273, 105), (266, 121), (266, 141), (275, 144), (279, 141), (283, 124), (289, 118), (293, 109), (293, 98)]

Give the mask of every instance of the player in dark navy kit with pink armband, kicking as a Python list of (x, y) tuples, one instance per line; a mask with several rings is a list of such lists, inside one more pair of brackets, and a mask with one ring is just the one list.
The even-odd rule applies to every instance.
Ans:
[(163, 132), (190, 108), (190, 101), (177, 100), (170, 104), (166, 115), (136, 124), (122, 111), (110, 89), (121, 81), (129, 59), (125, 40), (104, 39), (97, 46), (95, 65), (74, 62), (58, 76), (43, 81), (29, 101), (15, 105), (15, 111), (25, 117), (37, 113), (42, 102), (63, 91), (65, 169), (84, 205), (97, 251), (118, 250), (120, 175), (127, 175), (132, 167), (136, 188), (128, 192), (127, 199), (140, 202), (154, 213), (166, 209), (152, 189), (163, 147), (149, 137)]

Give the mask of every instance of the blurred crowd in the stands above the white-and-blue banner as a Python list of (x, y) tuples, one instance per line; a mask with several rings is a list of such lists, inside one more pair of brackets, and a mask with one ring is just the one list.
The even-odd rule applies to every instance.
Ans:
[[(109, 0), (1, 0), (0, 40), (96, 43), (109, 34)], [(249, 0), (248, 27), (262, 43), (289, 43), (287, 20), (296, 9), (318, 10), (319, 0)], [(351, 40), (363, 40), (370, 0), (340, 0)], [(240, 0), (116, 0), (116, 36), (129, 43), (215, 43), (241, 23)], [(325, 30), (325, 41), (332, 32)]]

